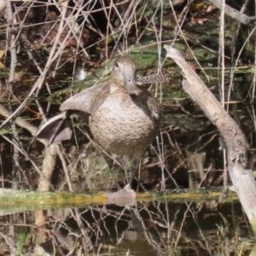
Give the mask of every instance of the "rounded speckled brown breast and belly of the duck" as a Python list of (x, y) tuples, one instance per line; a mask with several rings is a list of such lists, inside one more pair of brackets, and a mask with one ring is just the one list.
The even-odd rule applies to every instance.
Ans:
[(125, 88), (115, 90), (90, 118), (96, 142), (115, 154), (143, 154), (159, 126), (158, 101), (148, 93), (131, 97)]

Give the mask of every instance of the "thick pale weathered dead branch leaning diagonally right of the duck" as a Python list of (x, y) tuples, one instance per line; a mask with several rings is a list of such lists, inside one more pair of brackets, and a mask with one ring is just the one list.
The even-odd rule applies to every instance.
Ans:
[(230, 178), (255, 232), (256, 185), (252, 170), (247, 168), (246, 138), (236, 122), (230, 118), (230, 115), (222, 108), (220, 102), (212, 95), (212, 92), (189, 66), (189, 63), (184, 60), (180, 52), (168, 45), (165, 45), (165, 49), (167, 50), (166, 56), (176, 61), (183, 70), (186, 78), (183, 80), (183, 89), (195, 100), (224, 137)]

